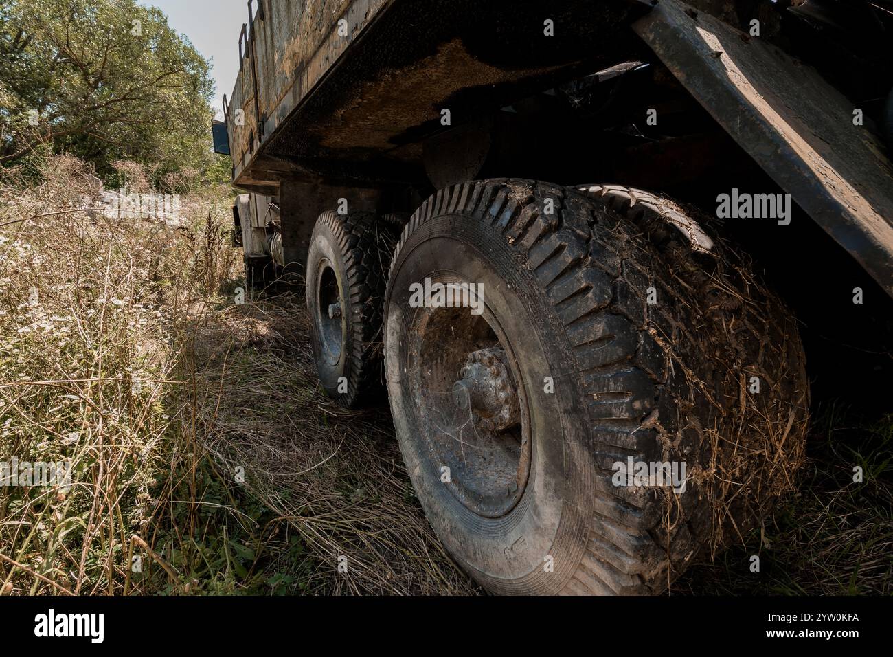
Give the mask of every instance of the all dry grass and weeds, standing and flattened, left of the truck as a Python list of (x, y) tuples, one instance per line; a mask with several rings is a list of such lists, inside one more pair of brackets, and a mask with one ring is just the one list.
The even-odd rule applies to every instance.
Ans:
[(301, 309), (235, 303), (228, 190), (184, 197), (172, 229), (80, 211), (88, 168), (39, 165), (0, 181), (0, 460), (73, 481), (0, 488), (0, 591), (474, 590), (387, 418), (316, 389)]

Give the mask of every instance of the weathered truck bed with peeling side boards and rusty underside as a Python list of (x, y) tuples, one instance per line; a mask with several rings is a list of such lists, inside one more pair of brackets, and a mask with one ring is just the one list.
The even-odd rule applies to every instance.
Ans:
[(626, 28), (646, 12), (628, 0), (260, 0), (226, 113), (234, 181), (274, 193), (281, 176), (421, 179), (419, 143), (441, 109), (458, 125), (616, 63), (641, 47)]

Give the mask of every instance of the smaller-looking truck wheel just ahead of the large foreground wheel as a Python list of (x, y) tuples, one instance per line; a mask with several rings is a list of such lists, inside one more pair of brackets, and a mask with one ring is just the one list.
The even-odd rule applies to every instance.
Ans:
[(307, 253), (313, 358), (326, 393), (353, 408), (380, 390), (385, 268), (396, 233), (377, 215), (324, 212)]

